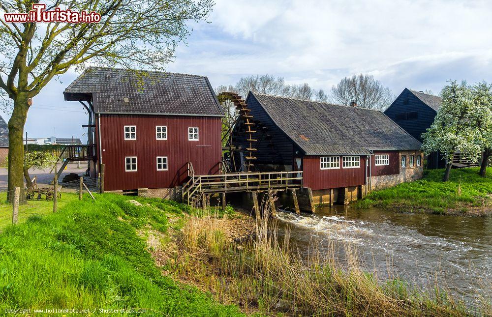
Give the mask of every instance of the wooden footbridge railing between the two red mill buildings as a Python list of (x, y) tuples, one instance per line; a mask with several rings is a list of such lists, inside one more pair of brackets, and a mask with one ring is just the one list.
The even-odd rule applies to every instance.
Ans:
[(193, 196), (217, 193), (292, 189), (303, 186), (303, 172), (257, 172), (198, 175), (183, 185), (183, 201)]

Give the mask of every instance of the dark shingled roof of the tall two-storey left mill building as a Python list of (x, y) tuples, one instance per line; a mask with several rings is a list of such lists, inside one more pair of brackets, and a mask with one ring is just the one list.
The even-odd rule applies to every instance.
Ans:
[(224, 115), (205, 76), (90, 67), (63, 91), (72, 101), (91, 94), (95, 113)]

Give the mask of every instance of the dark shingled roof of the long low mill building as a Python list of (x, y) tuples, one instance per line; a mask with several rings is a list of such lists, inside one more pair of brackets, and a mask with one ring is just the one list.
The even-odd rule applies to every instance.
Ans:
[(308, 155), (416, 150), (421, 143), (380, 111), (250, 92)]

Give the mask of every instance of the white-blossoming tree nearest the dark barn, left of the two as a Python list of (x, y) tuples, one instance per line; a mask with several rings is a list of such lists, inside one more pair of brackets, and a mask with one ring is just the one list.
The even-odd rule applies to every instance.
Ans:
[(470, 87), (451, 81), (442, 89), (442, 103), (431, 127), (423, 134), (422, 149), (426, 154), (434, 151), (444, 154), (446, 172), (443, 181), (449, 179), (455, 153), (461, 152), (468, 160), (478, 161), (480, 144), (475, 129), (476, 111)]

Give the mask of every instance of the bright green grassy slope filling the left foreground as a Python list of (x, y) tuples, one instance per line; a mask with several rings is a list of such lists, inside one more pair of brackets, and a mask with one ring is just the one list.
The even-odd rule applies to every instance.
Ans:
[(186, 211), (175, 202), (104, 194), (6, 226), (0, 234), (0, 310), (89, 309), (99, 315), (99, 309), (145, 308), (150, 316), (240, 315), (237, 307), (217, 304), (210, 294), (163, 276), (137, 233), (167, 232), (168, 216), (180, 218)]

